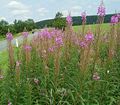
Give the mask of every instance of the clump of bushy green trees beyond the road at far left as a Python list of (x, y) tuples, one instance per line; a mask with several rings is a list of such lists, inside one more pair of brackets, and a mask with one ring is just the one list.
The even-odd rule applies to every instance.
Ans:
[(23, 32), (24, 28), (27, 29), (27, 31), (32, 31), (32, 29), (36, 28), (36, 23), (33, 19), (28, 19), (25, 21), (22, 20), (15, 20), (13, 24), (9, 24), (5, 20), (0, 21), (0, 36), (5, 37), (6, 33), (8, 32), (8, 29), (12, 33), (20, 33)]

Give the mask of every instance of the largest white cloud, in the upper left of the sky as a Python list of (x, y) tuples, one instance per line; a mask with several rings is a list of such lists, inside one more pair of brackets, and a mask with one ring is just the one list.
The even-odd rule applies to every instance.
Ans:
[(8, 8), (13, 15), (28, 15), (30, 10), (29, 7), (17, 0), (12, 0), (8, 3)]

